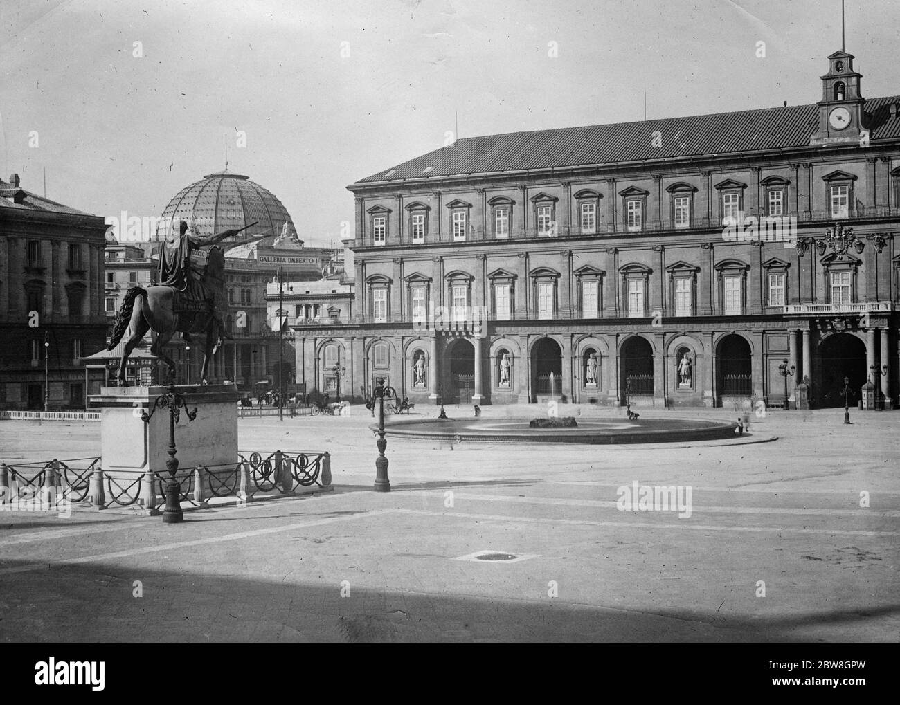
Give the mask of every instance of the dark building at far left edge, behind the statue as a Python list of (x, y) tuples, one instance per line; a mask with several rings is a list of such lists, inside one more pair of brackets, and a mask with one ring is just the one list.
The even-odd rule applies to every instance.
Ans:
[(82, 361), (106, 340), (105, 231), (18, 174), (0, 180), (0, 407), (40, 409), (46, 393), (50, 408), (84, 408), (99, 391), (102, 372)]

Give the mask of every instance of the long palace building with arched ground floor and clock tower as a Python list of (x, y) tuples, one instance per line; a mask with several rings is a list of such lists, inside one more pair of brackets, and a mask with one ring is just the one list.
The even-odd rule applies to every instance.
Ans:
[(351, 184), (353, 316), (292, 326), (297, 381), (821, 407), (846, 377), (890, 408), (900, 96), (827, 64), (818, 103), (458, 139)]

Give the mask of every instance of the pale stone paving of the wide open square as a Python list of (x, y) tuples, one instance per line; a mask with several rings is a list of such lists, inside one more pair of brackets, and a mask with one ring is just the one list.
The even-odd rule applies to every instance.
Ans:
[[(385, 494), (365, 408), (243, 419), (242, 449), (329, 450), (335, 491), (176, 525), (0, 513), (0, 640), (896, 641), (900, 412), (842, 417), (751, 415), (743, 441), (778, 440), (740, 445), (392, 439)], [(0, 422), (6, 462), (98, 445), (95, 423)], [(620, 510), (635, 482), (689, 487), (690, 516)], [(520, 559), (458, 559), (478, 551)]]

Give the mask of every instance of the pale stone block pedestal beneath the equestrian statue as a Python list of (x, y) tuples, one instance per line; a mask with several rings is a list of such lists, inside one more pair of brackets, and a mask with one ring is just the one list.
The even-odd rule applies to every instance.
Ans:
[[(189, 409), (197, 408), (197, 416), (188, 420), (184, 409), (175, 424), (175, 458), (178, 474), (198, 465), (207, 468), (234, 467), (238, 462), (238, 399), (234, 386), (178, 385), (175, 391), (184, 395)], [(121, 502), (139, 495), (136, 503), (148, 513), (159, 504), (161, 488), (154, 472), (167, 477), (169, 443), (169, 409), (157, 408), (148, 423), (141, 412), (150, 413), (157, 397), (167, 387), (103, 387), (90, 397), (94, 406), (102, 406), (100, 422), (103, 474), (112, 479), (112, 494), (132, 483)], [(143, 477), (142, 477), (143, 476)], [(112, 496), (107, 497), (112, 503)]]

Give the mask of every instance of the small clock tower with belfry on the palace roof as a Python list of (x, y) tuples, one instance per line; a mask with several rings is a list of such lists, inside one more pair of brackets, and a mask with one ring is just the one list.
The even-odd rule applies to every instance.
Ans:
[(843, 50), (828, 58), (828, 73), (822, 76), (822, 100), (818, 103), (819, 129), (810, 138), (811, 145), (860, 144), (868, 135), (863, 126), (862, 75), (853, 70), (853, 58)]

